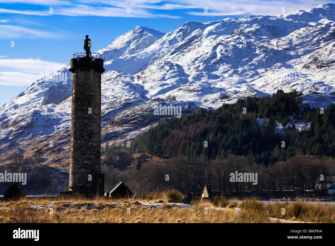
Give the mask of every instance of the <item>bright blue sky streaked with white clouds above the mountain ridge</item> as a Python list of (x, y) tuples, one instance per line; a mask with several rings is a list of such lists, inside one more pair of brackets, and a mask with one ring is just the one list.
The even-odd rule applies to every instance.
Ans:
[(277, 16), (282, 8), (290, 14), (334, 2), (0, 0), (0, 105), (35, 82), (40, 73), (56, 72), (70, 62), (73, 53), (84, 52), (86, 34), (92, 39), (91, 51), (96, 51), (137, 25), (169, 32), (187, 21)]

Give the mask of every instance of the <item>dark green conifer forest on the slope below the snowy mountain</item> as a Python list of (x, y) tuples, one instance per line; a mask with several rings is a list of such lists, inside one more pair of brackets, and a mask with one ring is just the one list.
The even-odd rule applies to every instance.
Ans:
[[(214, 111), (200, 109), (181, 118), (164, 119), (132, 141), (132, 153), (190, 160), (200, 156), (215, 160), (232, 154), (265, 166), (296, 154), (334, 158), (335, 106), (320, 113), (319, 108), (302, 104), (301, 97), (296, 91), (278, 90), (271, 97), (248, 96)], [(257, 118), (267, 119), (267, 125), (259, 126)], [(283, 133), (275, 132), (276, 122), (284, 127)], [(297, 130), (296, 122), (310, 123), (309, 130)], [(204, 147), (205, 141), (208, 147)]]

